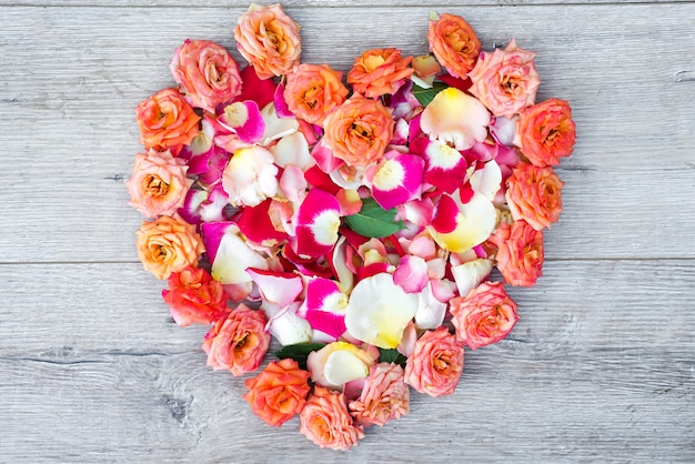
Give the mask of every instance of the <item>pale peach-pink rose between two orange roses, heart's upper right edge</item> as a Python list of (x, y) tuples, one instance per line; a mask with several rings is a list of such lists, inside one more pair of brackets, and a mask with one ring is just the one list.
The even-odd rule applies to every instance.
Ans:
[(535, 53), (516, 47), (514, 39), (504, 50), (481, 52), (469, 72), (469, 89), (496, 117), (512, 118), (532, 105), (541, 79), (533, 63)]

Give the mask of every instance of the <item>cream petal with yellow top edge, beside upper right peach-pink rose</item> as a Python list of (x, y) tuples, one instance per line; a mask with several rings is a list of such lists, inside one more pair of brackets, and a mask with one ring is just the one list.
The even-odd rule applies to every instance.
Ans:
[(477, 99), (453, 87), (437, 93), (422, 112), (420, 125), (430, 140), (467, 150), (487, 137), (491, 115)]

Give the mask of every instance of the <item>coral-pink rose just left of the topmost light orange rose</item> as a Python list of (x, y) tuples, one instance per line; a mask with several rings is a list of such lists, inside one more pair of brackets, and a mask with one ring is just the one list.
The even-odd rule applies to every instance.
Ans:
[(209, 40), (185, 40), (169, 64), (171, 74), (189, 102), (214, 112), (241, 92), (236, 61), (224, 47)]

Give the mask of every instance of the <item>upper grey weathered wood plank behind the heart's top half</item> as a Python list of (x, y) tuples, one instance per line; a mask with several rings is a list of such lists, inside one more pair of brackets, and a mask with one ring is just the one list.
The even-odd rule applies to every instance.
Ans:
[[(695, 107), (685, 104), (695, 99), (695, 85), (683, 79), (692, 71), (685, 57), (695, 53), (695, 4), (452, 11), (471, 20), (488, 49), (516, 36), (536, 50), (541, 98), (566, 98), (574, 107), (578, 142), (561, 169), (565, 213), (547, 234), (548, 258), (695, 256), (687, 234), (695, 219), (679, 214), (695, 205), (682, 188), (695, 176)], [(122, 184), (140, 150), (133, 108), (172, 83), (167, 62), (183, 38), (232, 48), (239, 10), (2, 13), (0, 262), (134, 261), (140, 219), (125, 204)], [(360, 9), (293, 14), (304, 26), (306, 61), (346, 69), (366, 47), (426, 49), (427, 8), (403, 10), (399, 24), (391, 9), (370, 10), (385, 27), (370, 30), (369, 46), (355, 36), (354, 22), (345, 21), (361, 18)], [(403, 22), (412, 28), (401, 28)], [(667, 220), (673, 216), (681, 219)]]

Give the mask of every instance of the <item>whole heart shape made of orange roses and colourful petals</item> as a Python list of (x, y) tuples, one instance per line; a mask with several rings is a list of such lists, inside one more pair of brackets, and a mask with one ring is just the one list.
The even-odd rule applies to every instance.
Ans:
[(542, 275), (575, 128), (565, 101), (535, 102), (533, 52), (482, 52), (461, 17), (431, 17), (430, 54), (365, 51), (349, 87), (301, 63), (299, 31), (251, 4), (234, 28), (249, 65), (211, 41), (178, 48), (179, 87), (137, 108), (147, 151), (127, 186), (143, 266), (179, 325), (209, 326), (208, 365), (256, 371), (274, 337), (289, 357), (244, 400), (346, 450), (407, 414), (411, 389), (454, 394), (464, 346), (511, 333), (516, 304), (491, 274)]

